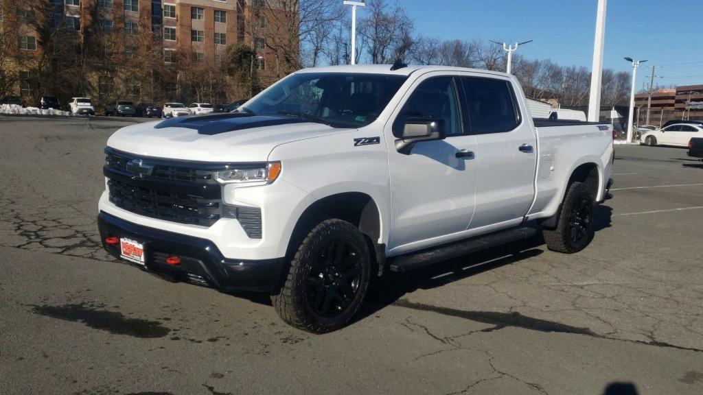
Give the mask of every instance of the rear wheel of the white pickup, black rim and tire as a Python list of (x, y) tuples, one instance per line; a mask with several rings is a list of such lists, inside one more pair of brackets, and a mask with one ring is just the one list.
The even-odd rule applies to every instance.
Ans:
[[(562, 202), (556, 228), (542, 229), (547, 247), (552, 251), (565, 254), (573, 254), (586, 248), (595, 234), (593, 230), (594, 205), (593, 196), (586, 184), (572, 183)], [(581, 214), (574, 214), (579, 211), (588, 213), (587, 218), (581, 218)], [(583, 216), (585, 217), (585, 215)], [(581, 234), (581, 229), (583, 229), (583, 235), (580, 238), (574, 238), (574, 235)]]

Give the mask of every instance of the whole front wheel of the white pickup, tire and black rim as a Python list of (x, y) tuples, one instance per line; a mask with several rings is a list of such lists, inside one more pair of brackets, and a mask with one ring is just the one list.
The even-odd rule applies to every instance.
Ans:
[(298, 247), (285, 284), (271, 297), (273, 307), (286, 323), (307, 332), (340, 329), (361, 306), (370, 266), (359, 229), (341, 219), (325, 220)]

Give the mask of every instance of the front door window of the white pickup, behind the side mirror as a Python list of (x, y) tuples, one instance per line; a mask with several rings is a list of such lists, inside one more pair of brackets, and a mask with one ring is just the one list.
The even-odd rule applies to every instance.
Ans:
[(458, 94), (453, 77), (437, 77), (423, 81), (411, 93), (393, 124), (393, 134), (401, 137), (408, 118), (444, 120), (446, 136), (463, 134)]

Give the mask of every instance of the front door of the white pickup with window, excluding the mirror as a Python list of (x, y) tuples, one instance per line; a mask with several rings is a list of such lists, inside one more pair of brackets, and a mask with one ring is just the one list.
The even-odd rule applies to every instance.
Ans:
[[(403, 98), (386, 125), (392, 226), (389, 250), (417, 250), (432, 239), (465, 231), (474, 212), (475, 138), (465, 134), (458, 78), (428, 73)], [(444, 121), (446, 139), (416, 143), (399, 153), (392, 142), (408, 117)]]

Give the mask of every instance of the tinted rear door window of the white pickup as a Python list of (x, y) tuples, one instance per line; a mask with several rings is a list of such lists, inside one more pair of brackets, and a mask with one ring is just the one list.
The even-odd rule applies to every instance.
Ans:
[(511, 131), (520, 124), (515, 93), (503, 79), (463, 77), (472, 134)]

